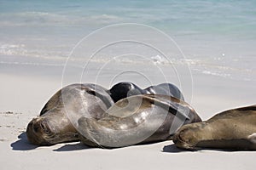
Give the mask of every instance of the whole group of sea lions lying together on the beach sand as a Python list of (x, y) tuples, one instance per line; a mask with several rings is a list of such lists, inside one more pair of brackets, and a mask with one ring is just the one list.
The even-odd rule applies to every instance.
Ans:
[(224, 111), (206, 122), (171, 83), (112, 88), (85, 83), (59, 90), (26, 127), (30, 143), (81, 141), (119, 148), (173, 140), (178, 148), (256, 150), (256, 105)]

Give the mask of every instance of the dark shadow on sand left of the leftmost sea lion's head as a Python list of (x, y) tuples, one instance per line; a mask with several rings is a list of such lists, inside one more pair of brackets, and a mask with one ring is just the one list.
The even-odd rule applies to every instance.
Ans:
[(20, 133), (18, 140), (10, 144), (13, 150), (34, 150), (38, 145), (30, 144), (26, 138), (26, 133)]

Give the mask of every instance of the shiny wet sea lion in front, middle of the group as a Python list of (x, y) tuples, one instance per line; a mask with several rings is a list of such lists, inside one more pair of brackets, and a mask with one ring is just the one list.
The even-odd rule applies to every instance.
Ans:
[(86, 145), (118, 148), (170, 139), (178, 127), (201, 122), (182, 100), (160, 94), (134, 95), (119, 100), (101, 119), (81, 117), (79, 139)]

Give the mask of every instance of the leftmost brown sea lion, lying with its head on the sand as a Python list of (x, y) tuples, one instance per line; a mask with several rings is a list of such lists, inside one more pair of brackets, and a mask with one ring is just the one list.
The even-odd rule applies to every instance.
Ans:
[(27, 139), (38, 145), (79, 140), (75, 120), (84, 114), (101, 118), (104, 110), (113, 105), (113, 99), (106, 91), (95, 84), (73, 84), (62, 88), (44, 105), (40, 116), (29, 122)]

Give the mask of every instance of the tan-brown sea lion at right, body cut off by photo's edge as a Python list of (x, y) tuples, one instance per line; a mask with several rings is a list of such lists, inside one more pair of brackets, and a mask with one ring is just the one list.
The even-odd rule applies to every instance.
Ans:
[(224, 111), (206, 122), (181, 127), (173, 136), (178, 148), (256, 150), (256, 105)]

